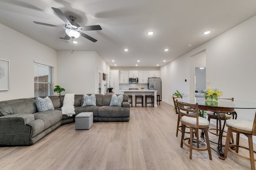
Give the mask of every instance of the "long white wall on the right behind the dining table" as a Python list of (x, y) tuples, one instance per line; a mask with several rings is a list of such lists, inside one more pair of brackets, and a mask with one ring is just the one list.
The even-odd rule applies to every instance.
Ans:
[[(163, 100), (170, 98), (175, 90), (191, 97), (193, 94), (193, 69), (191, 56), (206, 50), (206, 88), (218, 88), (225, 98), (256, 103), (256, 16), (240, 23), (218, 37), (200, 45), (178, 59), (162, 66)], [(188, 78), (190, 77), (190, 78)], [(184, 78), (188, 78), (186, 86)], [(192, 87), (192, 88), (191, 88)], [(188, 96), (187, 96), (188, 95)], [(252, 120), (255, 109), (236, 109), (238, 119)]]

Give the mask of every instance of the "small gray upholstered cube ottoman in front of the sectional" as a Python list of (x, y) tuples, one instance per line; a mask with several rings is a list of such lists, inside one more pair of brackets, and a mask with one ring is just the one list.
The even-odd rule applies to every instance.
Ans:
[(93, 113), (92, 112), (82, 112), (76, 115), (75, 119), (76, 130), (80, 129), (90, 129), (93, 123)]

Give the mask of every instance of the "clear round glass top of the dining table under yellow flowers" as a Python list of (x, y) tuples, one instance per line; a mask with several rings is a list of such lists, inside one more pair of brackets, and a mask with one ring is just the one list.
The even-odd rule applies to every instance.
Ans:
[(193, 100), (189, 100), (188, 98), (177, 98), (179, 102), (196, 104), (199, 106), (212, 106), (212, 107), (225, 107), (225, 108), (234, 108), (234, 109), (256, 109), (256, 103), (254, 102), (246, 102), (240, 100), (228, 100), (228, 99), (218, 99), (217, 102), (209, 102), (204, 98), (194, 98)]

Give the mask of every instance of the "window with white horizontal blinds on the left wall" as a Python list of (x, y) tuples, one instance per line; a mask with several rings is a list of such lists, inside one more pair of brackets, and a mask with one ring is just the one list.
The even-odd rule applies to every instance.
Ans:
[(34, 97), (54, 95), (54, 67), (34, 62)]

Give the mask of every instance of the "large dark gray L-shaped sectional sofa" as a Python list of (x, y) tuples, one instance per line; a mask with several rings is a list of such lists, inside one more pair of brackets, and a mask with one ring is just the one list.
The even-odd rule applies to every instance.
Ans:
[[(122, 106), (109, 106), (112, 94), (95, 95), (96, 106), (82, 106), (84, 95), (75, 95), (75, 115), (90, 111), (94, 121), (129, 121), (130, 103), (126, 94)], [(75, 115), (62, 115), (64, 96), (49, 98), (54, 110), (42, 112), (37, 112), (35, 98), (0, 102), (0, 145), (32, 145), (60, 125), (75, 121)]]

